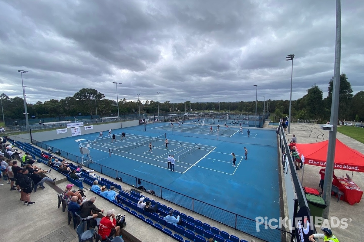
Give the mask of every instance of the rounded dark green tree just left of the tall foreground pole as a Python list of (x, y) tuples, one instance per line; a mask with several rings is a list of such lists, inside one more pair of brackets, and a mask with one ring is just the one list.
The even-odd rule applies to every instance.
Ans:
[(309, 118), (323, 118), (323, 91), (316, 84), (307, 90), (305, 107)]

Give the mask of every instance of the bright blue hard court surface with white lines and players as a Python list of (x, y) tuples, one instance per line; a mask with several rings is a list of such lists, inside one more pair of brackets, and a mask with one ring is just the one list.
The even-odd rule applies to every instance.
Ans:
[[(229, 127), (222, 134), (226, 127), (220, 127), (217, 139), (216, 125), (214, 134), (209, 133), (210, 126), (191, 125), (194, 124), (174, 127), (173, 131), (168, 123), (118, 129), (114, 130), (117, 136), (112, 143), (111, 136), (99, 139), (98, 133), (44, 143), (81, 156), (75, 140), (85, 139), (95, 162), (91, 165), (102, 164), (253, 220), (258, 216), (279, 219), (275, 130), (250, 128), (248, 137), (248, 127), (243, 134), (238, 127)], [(126, 133), (126, 139), (121, 140), (121, 132)], [(165, 138), (169, 140), (168, 149)], [(153, 153), (149, 152), (149, 142), (154, 146)], [(244, 147), (248, 150), (247, 160)], [(236, 154), (236, 167), (232, 166), (231, 152)], [(175, 163), (176, 172), (167, 169), (170, 154), (179, 160)]]

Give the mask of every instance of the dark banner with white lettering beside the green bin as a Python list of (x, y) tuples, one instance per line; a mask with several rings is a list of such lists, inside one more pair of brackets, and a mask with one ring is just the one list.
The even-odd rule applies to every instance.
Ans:
[(314, 226), (311, 223), (310, 210), (304, 206), (298, 210), (294, 218), (294, 230), (296, 232), (296, 241), (305, 242), (309, 241), (308, 237), (313, 234)]

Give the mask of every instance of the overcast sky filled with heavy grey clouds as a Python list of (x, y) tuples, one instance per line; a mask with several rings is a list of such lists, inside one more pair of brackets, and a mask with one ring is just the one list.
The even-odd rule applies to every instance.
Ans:
[[(341, 72), (364, 82), (364, 2), (341, 1)], [(327, 96), (335, 0), (0, 0), (0, 93), (28, 103), (105, 98), (223, 102)]]

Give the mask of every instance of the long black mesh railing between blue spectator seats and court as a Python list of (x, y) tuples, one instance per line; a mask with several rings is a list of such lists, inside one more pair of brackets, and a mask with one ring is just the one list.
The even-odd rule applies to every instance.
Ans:
[[(140, 186), (138, 184), (138, 177), (130, 176), (124, 172), (112, 169), (110, 167), (106, 167), (104, 165), (100, 165), (98, 163), (91, 162), (89, 160), (83, 159), (82, 157), (70, 154), (66, 151), (60, 150), (58, 148), (52, 147), (36, 140), (33, 140), (33, 144), (42, 149), (51, 148), (54, 153), (58, 151), (59, 156), (62, 156), (76, 163), (81, 163), (82, 161), (84, 161), (84, 166), (88, 167), (89, 169), (93, 169), (109, 177), (121, 177), (123, 179), (122, 182), (131, 186), (135, 186), (135, 188), (138, 188), (138, 186)], [(141, 185), (143, 185), (147, 190), (155, 191), (155, 196), (170, 201), (178, 206), (189, 209), (195, 213), (201, 214), (217, 222), (223, 223), (226, 226), (252, 235), (253, 237), (268, 242), (285, 242), (289, 241), (289, 238), (291, 237), (291, 233), (289, 231), (274, 228), (264, 222), (257, 222), (255, 219), (247, 218), (236, 213), (229, 212), (225, 209), (218, 208), (217, 206), (211, 204), (207, 204), (206, 202), (175, 192), (168, 188), (164, 188), (152, 182), (142, 179), (141, 181)], [(260, 227), (259, 232), (257, 232), (258, 227)], [(263, 227), (265, 227), (265, 229), (262, 229)]]

